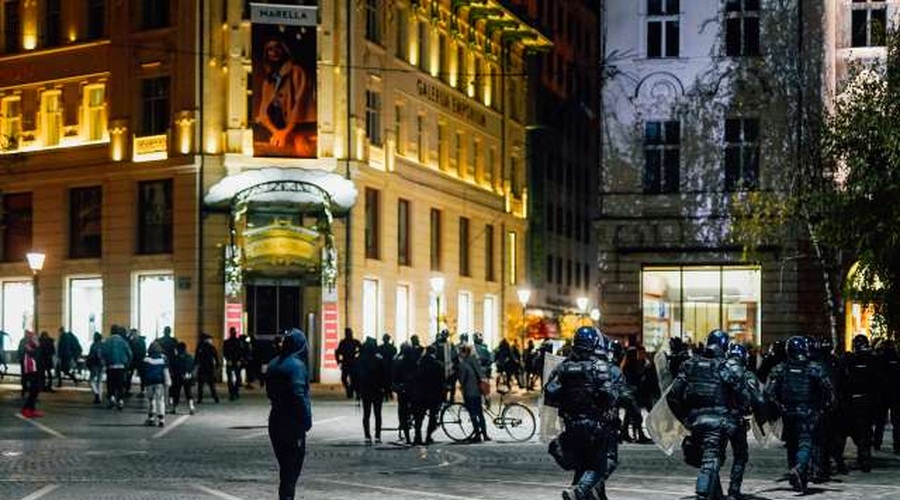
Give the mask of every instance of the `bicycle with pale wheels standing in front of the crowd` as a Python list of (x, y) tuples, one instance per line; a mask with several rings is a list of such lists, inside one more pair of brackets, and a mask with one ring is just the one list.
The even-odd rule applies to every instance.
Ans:
[[(534, 436), (536, 423), (534, 412), (519, 402), (504, 403), (508, 390), (497, 390), (500, 404), (494, 407), (482, 403), (486, 421), (493, 422), (497, 429), (505, 430), (513, 441), (524, 442)], [(495, 410), (496, 408), (496, 410)], [(441, 409), (441, 429), (451, 441), (461, 443), (475, 435), (475, 426), (469, 410), (462, 403), (445, 403)]]

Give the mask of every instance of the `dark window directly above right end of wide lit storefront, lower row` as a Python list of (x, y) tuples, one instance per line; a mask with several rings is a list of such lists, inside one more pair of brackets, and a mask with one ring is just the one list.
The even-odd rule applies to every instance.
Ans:
[(759, 187), (759, 119), (725, 120), (725, 190)]

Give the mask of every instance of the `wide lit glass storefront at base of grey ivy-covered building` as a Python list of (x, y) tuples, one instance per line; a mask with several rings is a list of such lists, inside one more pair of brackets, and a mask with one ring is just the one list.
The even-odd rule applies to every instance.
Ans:
[(649, 351), (680, 337), (700, 342), (715, 328), (759, 345), (758, 266), (645, 267), (641, 273), (643, 342)]

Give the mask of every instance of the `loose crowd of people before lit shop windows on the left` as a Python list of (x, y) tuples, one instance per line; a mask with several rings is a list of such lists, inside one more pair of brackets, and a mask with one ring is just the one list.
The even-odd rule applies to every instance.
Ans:
[[(7, 334), (0, 332), (0, 338), (3, 336)], [(55, 376), (57, 388), (65, 379), (75, 386), (87, 381), (95, 405), (105, 403), (108, 408), (121, 411), (132, 397), (146, 399), (145, 423), (159, 427), (165, 425), (165, 415), (177, 413), (182, 403), (193, 414), (196, 404), (203, 403), (204, 392), (219, 402), (216, 379), (223, 362), (230, 400), (238, 399), (241, 387), (252, 387), (254, 381), (264, 385), (261, 367), (264, 361), (268, 362), (252, 336), (238, 336), (233, 328), (223, 343), (221, 357), (207, 334), (201, 334), (191, 354), (187, 345), (172, 334), (171, 327), (165, 327), (162, 336), (148, 346), (146, 337), (137, 329), (119, 325), (113, 325), (106, 337), (95, 332), (86, 352), (78, 337), (65, 328), (60, 327), (56, 339), (47, 332), (36, 335), (26, 331), (17, 354), (22, 374), (23, 417), (43, 416), (36, 405), (38, 395), (55, 391)], [(0, 373), (5, 374), (3, 361)]]

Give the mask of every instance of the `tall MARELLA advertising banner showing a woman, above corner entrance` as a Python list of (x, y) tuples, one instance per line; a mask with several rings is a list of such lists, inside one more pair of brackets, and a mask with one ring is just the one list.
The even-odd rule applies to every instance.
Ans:
[(317, 7), (251, 4), (253, 156), (316, 157)]

